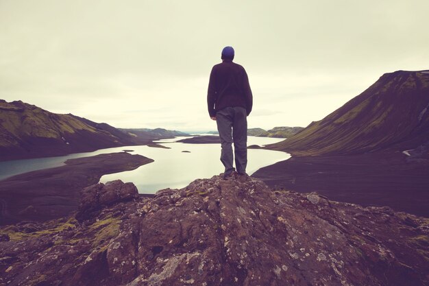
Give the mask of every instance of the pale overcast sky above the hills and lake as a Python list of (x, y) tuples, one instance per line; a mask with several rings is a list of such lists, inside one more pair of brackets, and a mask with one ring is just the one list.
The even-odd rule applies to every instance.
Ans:
[(383, 73), (429, 69), (428, 0), (0, 0), (0, 99), (120, 128), (215, 130), (234, 47), (249, 128), (307, 126)]

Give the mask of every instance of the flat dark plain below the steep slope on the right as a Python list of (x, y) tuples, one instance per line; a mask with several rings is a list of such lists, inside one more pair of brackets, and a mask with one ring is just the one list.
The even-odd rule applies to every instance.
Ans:
[(258, 169), (272, 189), (315, 191), (331, 200), (429, 217), (429, 161), (408, 162), (401, 152), (294, 156)]

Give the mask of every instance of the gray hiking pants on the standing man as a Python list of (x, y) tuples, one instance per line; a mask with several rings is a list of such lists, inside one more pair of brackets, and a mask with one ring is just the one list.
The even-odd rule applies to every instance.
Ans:
[(234, 142), (235, 166), (244, 174), (247, 165), (247, 112), (243, 107), (227, 107), (216, 112), (217, 130), (221, 137), (221, 162), (225, 174), (234, 171), (232, 143)]

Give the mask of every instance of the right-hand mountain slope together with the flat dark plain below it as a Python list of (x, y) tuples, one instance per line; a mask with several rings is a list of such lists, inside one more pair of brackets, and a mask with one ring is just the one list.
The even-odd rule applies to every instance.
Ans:
[(429, 217), (429, 71), (386, 73), (321, 121), (267, 148), (270, 187)]

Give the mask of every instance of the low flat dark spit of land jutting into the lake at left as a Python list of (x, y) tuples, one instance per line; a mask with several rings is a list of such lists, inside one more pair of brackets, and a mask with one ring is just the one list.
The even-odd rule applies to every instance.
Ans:
[(75, 211), (79, 191), (103, 174), (129, 171), (154, 160), (128, 153), (101, 154), (66, 165), (20, 174), (0, 181), (0, 224), (47, 220)]

